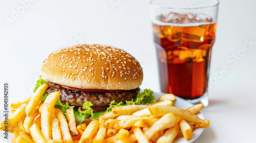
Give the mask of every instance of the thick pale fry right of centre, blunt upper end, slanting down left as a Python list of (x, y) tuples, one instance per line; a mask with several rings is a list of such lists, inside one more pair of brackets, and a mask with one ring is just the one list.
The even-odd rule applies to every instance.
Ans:
[[(170, 106), (171, 107), (171, 106)], [(173, 127), (175, 124), (175, 116), (173, 113), (167, 113), (162, 116), (155, 124), (153, 124), (148, 130), (146, 130), (145, 135), (148, 140), (158, 131)]]

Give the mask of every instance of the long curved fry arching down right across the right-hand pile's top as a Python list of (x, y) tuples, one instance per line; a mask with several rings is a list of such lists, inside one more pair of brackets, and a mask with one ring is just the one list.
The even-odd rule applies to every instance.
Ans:
[(202, 127), (202, 128), (208, 127), (208, 125), (201, 118), (199, 118), (197, 115), (195, 115), (187, 110), (184, 110), (184, 109), (180, 109), (180, 108), (173, 107), (173, 106), (165, 106), (165, 105), (151, 106), (151, 107), (149, 107), (149, 109), (153, 115), (163, 115), (163, 114), (171, 112), (171, 113), (175, 114), (176, 116), (180, 116), (191, 123), (197, 124), (199, 127)]

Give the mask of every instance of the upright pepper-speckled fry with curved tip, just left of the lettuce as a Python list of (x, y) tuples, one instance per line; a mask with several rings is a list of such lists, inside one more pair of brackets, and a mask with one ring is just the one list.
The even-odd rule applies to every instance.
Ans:
[(52, 139), (51, 117), (54, 105), (59, 99), (59, 96), (60, 93), (58, 91), (51, 92), (44, 102), (44, 109), (41, 113), (41, 126), (42, 135), (44, 135), (46, 140)]

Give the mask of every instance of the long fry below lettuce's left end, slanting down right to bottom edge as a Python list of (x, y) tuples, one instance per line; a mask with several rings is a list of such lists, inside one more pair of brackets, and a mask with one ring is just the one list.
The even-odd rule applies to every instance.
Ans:
[(58, 117), (59, 120), (59, 125), (60, 125), (60, 130), (61, 130), (61, 134), (63, 137), (63, 141), (65, 143), (72, 143), (72, 137), (69, 131), (69, 125), (67, 122), (67, 119), (65, 117), (65, 115), (62, 113), (62, 111), (60, 109), (56, 109), (56, 115)]

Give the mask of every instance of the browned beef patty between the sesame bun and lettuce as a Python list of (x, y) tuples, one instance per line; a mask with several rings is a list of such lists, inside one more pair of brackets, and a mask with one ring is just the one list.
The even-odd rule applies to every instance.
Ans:
[(109, 106), (111, 101), (114, 100), (115, 102), (125, 103), (125, 101), (134, 99), (140, 90), (140, 88), (136, 88), (120, 92), (81, 91), (67, 89), (51, 82), (48, 82), (48, 84), (49, 88), (46, 90), (46, 93), (59, 91), (59, 100), (62, 103), (68, 102), (70, 105), (81, 107), (86, 101), (90, 101), (93, 104), (92, 107)]

